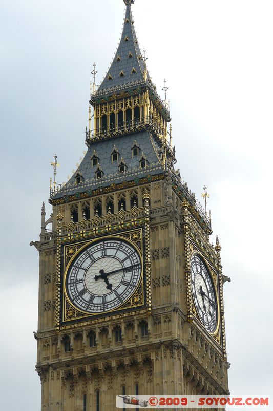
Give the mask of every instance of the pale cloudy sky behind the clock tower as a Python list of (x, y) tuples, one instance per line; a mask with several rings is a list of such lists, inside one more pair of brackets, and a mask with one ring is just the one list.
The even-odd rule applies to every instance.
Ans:
[[(85, 150), (92, 64), (101, 81), (123, 11), (122, 0), (0, 0), (0, 387), (7, 411), (39, 409), (32, 335), (38, 253), (28, 244), (38, 239), (52, 156), (61, 182)], [(271, 0), (133, 6), (151, 76), (159, 91), (164, 77), (170, 87), (181, 175), (199, 198), (204, 184), (211, 194), (211, 241), (219, 235), (224, 274), (232, 277), (224, 295), (234, 394), (270, 394), (273, 386), (272, 11)]]

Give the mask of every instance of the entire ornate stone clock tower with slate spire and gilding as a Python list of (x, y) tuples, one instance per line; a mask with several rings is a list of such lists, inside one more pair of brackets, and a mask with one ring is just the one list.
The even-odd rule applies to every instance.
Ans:
[[(116, 395), (228, 393), (221, 247), (175, 170), (170, 113), (131, 7), (90, 99), (87, 153), (41, 211), (41, 410), (116, 409)], [(94, 117), (94, 121), (91, 118)], [(52, 225), (52, 231), (49, 231)]]

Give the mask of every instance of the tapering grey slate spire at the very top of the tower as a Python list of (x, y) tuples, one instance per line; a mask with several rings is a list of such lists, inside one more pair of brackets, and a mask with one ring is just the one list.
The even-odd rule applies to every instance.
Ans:
[[(98, 92), (144, 80), (145, 62), (138, 45), (131, 10), (134, 0), (123, 1), (126, 4), (126, 12), (120, 43)], [(147, 79), (150, 79), (148, 73)]]

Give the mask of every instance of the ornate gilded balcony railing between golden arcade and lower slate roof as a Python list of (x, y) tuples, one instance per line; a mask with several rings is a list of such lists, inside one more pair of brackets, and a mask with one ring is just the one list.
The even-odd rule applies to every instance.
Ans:
[(142, 119), (123, 121), (112, 124), (109, 127), (101, 127), (98, 130), (86, 131), (86, 144), (89, 146), (92, 142), (124, 136), (131, 133), (149, 130), (157, 139), (161, 147), (166, 148), (167, 157), (175, 160), (175, 147), (164, 137), (165, 128), (161, 127), (152, 115)]

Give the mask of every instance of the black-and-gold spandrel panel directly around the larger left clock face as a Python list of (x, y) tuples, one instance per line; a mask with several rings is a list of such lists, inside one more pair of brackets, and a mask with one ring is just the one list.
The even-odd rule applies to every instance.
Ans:
[[(130, 233), (132, 233), (132, 234), (133, 234), (133, 233), (137, 234), (137, 239), (140, 239), (140, 240), (141, 240), (141, 241), (140, 241), (140, 248), (137, 246), (136, 242), (134, 242), (134, 241), (132, 241), (131, 239), (128, 238), (128, 234), (130, 234)], [(144, 267), (143, 267), (143, 245), (142, 245), (142, 237), (143, 237), (143, 230), (142, 230), (142, 228), (138, 228), (138, 229), (136, 229), (136, 230), (124, 232), (124, 233), (122, 233), (122, 234), (120, 234), (120, 233), (118, 233), (118, 234), (116, 234), (116, 235), (115, 235), (115, 234), (111, 234), (111, 235), (107, 235), (107, 236), (102, 236), (102, 237), (98, 237), (98, 238), (93, 238), (92, 240), (89, 239), (89, 240), (84, 241), (84, 242), (81, 243), (82, 246), (76, 251), (76, 253), (74, 254), (73, 258), (70, 259), (70, 260), (68, 261), (68, 263), (67, 263), (67, 258), (66, 258), (66, 257), (67, 257), (66, 251), (67, 251), (68, 248), (71, 248), (72, 245), (71, 245), (71, 244), (65, 245), (65, 247), (64, 247), (64, 257), (63, 257), (63, 258), (64, 258), (64, 271), (65, 271), (65, 272), (64, 272), (64, 277), (63, 277), (63, 279), (62, 279), (62, 281), (63, 281), (62, 322), (71, 322), (71, 321), (77, 320), (76, 317), (67, 317), (66, 312), (68, 311), (69, 308), (68, 308), (68, 309), (66, 308), (66, 303), (68, 303), (68, 305), (71, 307), (71, 309), (74, 310), (75, 314), (76, 314), (76, 313), (81, 313), (81, 314), (83, 314), (81, 317), (78, 317), (78, 318), (81, 318), (81, 319), (82, 319), (82, 318), (86, 318), (86, 317), (93, 317), (93, 316), (97, 316), (97, 315), (103, 315), (103, 314), (109, 314), (109, 313), (113, 313), (113, 312), (118, 312), (118, 311), (123, 310), (123, 309), (137, 308), (137, 307), (141, 307), (141, 306), (144, 305), (144, 282), (143, 282), (143, 269), (144, 269)], [(77, 308), (77, 307), (70, 301), (70, 299), (69, 299), (69, 296), (68, 296), (68, 294), (67, 294), (66, 287), (65, 287), (66, 276), (67, 276), (68, 270), (69, 270), (71, 264), (73, 264), (74, 259), (75, 259), (75, 258), (77, 257), (77, 255), (82, 251), (83, 248), (86, 248), (86, 247), (88, 247), (89, 245), (94, 244), (94, 243), (97, 242), (97, 241), (101, 241), (101, 240), (103, 240), (103, 239), (113, 239), (113, 238), (116, 238), (116, 239), (120, 239), (120, 240), (124, 240), (124, 241), (129, 242), (129, 244), (131, 244), (131, 246), (132, 246), (132, 247), (136, 250), (136, 252), (138, 253), (139, 258), (140, 258), (140, 261), (141, 261), (141, 275), (140, 275), (139, 282), (138, 282), (138, 284), (137, 284), (137, 287), (136, 287), (135, 292), (134, 292), (130, 297), (128, 297), (127, 300), (125, 300), (123, 303), (121, 303), (120, 306), (114, 308), (113, 310), (106, 311), (105, 313), (99, 313), (99, 314), (98, 314), (98, 313), (94, 313), (94, 314), (92, 314), (92, 313), (87, 313), (86, 311), (83, 311), (83, 310), (80, 310), (79, 308)], [(131, 235), (131, 238), (132, 238), (132, 235)], [(74, 245), (75, 245), (75, 244), (76, 244), (76, 243), (74, 243)], [(67, 263), (67, 264), (66, 264), (66, 263)], [(140, 291), (140, 286), (141, 286), (141, 291)], [(137, 304), (137, 303), (136, 303), (136, 304), (133, 304), (133, 300), (134, 300), (135, 297), (138, 298), (138, 301), (139, 301), (138, 304)], [(128, 303), (130, 300), (131, 300), (131, 305), (128, 306), (127, 303)]]

